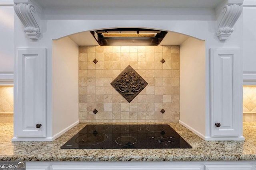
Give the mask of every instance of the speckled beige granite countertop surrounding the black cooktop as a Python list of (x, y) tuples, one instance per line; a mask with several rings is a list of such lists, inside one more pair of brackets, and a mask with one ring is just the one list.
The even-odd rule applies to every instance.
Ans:
[(60, 149), (85, 125), (76, 125), (53, 142), (11, 142), (11, 136), (4, 137), (3, 133), (13, 127), (1, 129), (0, 161), (256, 160), (256, 123), (244, 123), (246, 141), (204, 141), (181, 124), (169, 123), (192, 149)]

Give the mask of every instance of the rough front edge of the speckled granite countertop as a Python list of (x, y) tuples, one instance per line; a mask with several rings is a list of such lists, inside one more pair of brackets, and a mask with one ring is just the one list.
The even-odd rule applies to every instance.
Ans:
[(0, 156), (0, 161), (45, 162), (177, 162), (177, 161), (251, 161), (256, 155), (200, 155), (200, 156)]

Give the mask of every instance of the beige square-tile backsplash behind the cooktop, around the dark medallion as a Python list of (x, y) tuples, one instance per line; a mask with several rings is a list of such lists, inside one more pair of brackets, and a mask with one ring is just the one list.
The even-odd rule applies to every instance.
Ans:
[[(179, 46), (80, 46), (80, 122), (178, 122), (179, 53)], [(130, 103), (110, 85), (128, 65), (148, 82)]]

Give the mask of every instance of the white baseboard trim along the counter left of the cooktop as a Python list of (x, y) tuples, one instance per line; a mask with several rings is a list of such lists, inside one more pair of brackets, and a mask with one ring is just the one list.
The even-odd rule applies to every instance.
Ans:
[(26, 138), (19, 137), (19, 138), (17, 138), (17, 137), (13, 137), (12, 141), (13, 142), (17, 142), (17, 141), (52, 142), (55, 139), (57, 139), (58, 137), (60, 137), (61, 135), (63, 135), (65, 132), (67, 132), (69, 129), (71, 129), (72, 127), (77, 125), (78, 123), (79, 123), (79, 121), (76, 121), (72, 125), (66, 127), (65, 129), (63, 129), (62, 131), (60, 131), (59, 133), (54, 135), (53, 137), (46, 137), (46, 138), (37, 138), (37, 137), (26, 137)]

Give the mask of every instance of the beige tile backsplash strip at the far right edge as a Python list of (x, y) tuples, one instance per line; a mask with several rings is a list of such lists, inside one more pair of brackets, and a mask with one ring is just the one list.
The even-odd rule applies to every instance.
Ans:
[(256, 86), (243, 86), (243, 121), (256, 122)]

